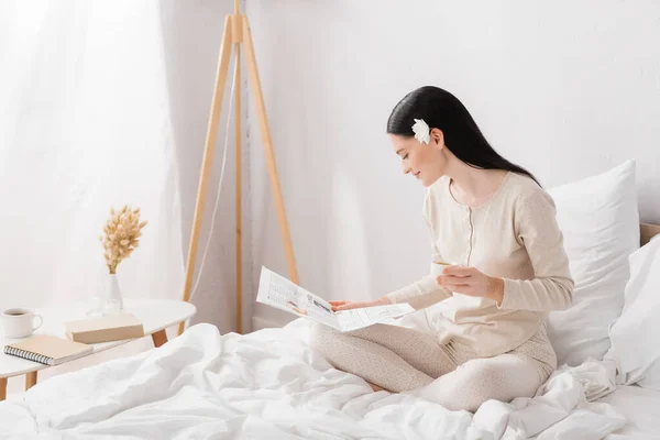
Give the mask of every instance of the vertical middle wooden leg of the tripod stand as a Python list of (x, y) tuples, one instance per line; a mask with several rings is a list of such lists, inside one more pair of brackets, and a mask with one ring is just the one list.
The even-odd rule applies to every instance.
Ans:
[(242, 212), (241, 198), (242, 191), (242, 173), (241, 173), (241, 45), (235, 45), (237, 69), (234, 72), (234, 90), (237, 99), (235, 112), (235, 142), (237, 142), (237, 331), (243, 332), (243, 246), (242, 246)]

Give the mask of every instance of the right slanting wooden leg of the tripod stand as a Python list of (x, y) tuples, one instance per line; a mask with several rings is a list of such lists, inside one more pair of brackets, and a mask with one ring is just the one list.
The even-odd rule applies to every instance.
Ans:
[(261, 88), (261, 81), (258, 79), (254, 45), (252, 43), (252, 34), (250, 33), (250, 24), (248, 23), (246, 16), (243, 16), (243, 42), (245, 43), (245, 61), (250, 76), (250, 86), (252, 88), (252, 94), (254, 95), (256, 116), (258, 119), (258, 125), (261, 128), (262, 141), (264, 143), (266, 165), (268, 167), (268, 175), (271, 176), (271, 187), (273, 188), (275, 209), (277, 210), (277, 218), (279, 220), (279, 230), (282, 232), (284, 252), (288, 263), (289, 277), (292, 282), (298, 284), (298, 273), (296, 270), (296, 261), (294, 258), (294, 248), (292, 246), (292, 238), (286, 221), (284, 200), (282, 198), (282, 189), (279, 187), (279, 177), (277, 176), (277, 167), (275, 165), (275, 154), (273, 153), (273, 141), (271, 140), (271, 131), (268, 129), (268, 120), (266, 117), (266, 106), (264, 103), (264, 96)]

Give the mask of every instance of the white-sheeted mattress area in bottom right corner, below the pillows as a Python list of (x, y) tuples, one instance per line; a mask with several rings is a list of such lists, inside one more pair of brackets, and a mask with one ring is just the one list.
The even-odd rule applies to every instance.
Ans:
[(626, 426), (605, 440), (660, 439), (660, 392), (639, 386), (619, 386), (598, 403), (609, 404), (626, 417)]

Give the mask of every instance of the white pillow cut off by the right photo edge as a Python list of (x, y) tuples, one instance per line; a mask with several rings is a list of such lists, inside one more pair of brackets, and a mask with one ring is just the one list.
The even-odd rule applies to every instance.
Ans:
[(660, 391), (660, 240), (630, 255), (630, 279), (620, 318), (612, 326), (605, 359), (617, 365), (617, 383)]

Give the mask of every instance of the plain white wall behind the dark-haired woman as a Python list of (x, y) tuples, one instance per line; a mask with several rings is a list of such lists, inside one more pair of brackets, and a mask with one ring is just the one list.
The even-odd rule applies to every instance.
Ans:
[[(546, 187), (637, 158), (641, 220), (660, 222), (660, 2), (250, 0), (248, 15), (310, 290), (373, 298), (426, 270), (422, 188), (385, 135), (393, 106), (421, 85), (455, 94)], [(287, 273), (256, 146), (253, 282), (261, 264)]]

